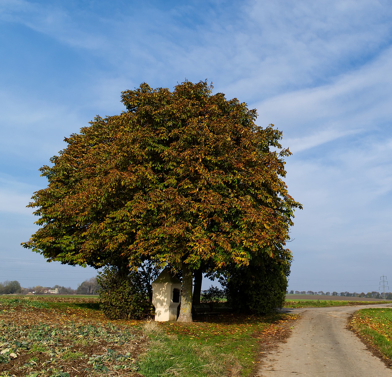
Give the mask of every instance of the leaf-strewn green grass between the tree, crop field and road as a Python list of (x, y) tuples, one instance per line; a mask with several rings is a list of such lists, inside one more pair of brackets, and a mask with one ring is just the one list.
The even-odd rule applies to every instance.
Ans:
[(260, 362), (260, 340), (281, 332), (279, 323), (293, 318), (227, 315), (214, 323), (147, 323), (151, 349), (138, 372), (146, 377), (248, 376)]

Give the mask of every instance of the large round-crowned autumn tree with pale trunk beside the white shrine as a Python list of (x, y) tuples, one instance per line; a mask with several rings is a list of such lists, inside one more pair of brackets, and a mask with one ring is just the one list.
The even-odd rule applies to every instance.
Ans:
[[(281, 132), (207, 82), (122, 92), (127, 111), (97, 116), (40, 170), (24, 247), (71, 265), (182, 274), (179, 320), (191, 321), (192, 272), (248, 265), (284, 249), (294, 201), (282, 180)], [(125, 273), (126, 275), (126, 273)]]

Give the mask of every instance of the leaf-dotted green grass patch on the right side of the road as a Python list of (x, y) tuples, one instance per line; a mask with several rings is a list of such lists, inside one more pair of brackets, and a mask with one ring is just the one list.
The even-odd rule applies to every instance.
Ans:
[(371, 308), (355, 312), (350, 319), (352, 329), (392, 359), (392, 309)]

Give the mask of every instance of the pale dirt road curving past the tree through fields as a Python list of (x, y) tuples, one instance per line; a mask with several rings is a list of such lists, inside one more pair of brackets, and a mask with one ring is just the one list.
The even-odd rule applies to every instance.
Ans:
[[(391, 304), (374, 305), (374, 307)], [(301, 313), (287, 343), (260, 364), (259, 376), (392, 377), (392, 370), (370, 353), (346, 328), (347, 319), (364, 306), (289, 309)]]

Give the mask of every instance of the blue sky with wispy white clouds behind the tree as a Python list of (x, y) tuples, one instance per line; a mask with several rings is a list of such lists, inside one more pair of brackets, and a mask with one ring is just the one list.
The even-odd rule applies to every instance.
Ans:
[[(121, 92), (208, 80), (283, 131), (289, 290), (392, 290), (392, 3), (0, 0), (0, 281), (76, 288), (93, 268), (22, 248), (38, 169)], [(203, 283), (204, 288), (211, 284)], [(387, 289), (388, 291), (388, 289)]]

